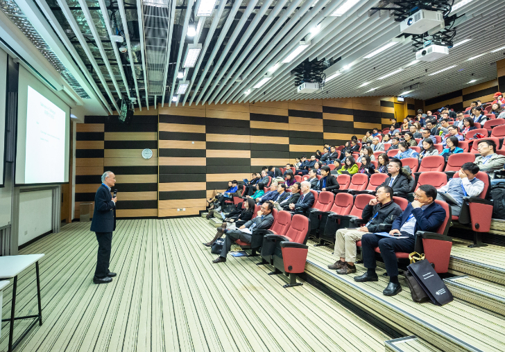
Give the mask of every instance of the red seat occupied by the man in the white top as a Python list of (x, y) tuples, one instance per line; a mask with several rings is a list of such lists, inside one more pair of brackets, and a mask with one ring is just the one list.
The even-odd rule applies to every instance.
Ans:
[[(459, 174), (456, 173), (454, 178), (456, 177), (459, 177)], [(464, 198), (465, 204), (461, 207), (459, 218), (452, 217), (452, 220), (458, 220), (461, 225), (472, 228), (474, 243), (468, 246), (470, 248), (486, 246), (482, 243), (482, 234), (489, 232), (493, 217), (493, 201), (486, 200), (491, 184), (489, 175), (479, 171), (476, 177), (484, 183), (482, 193), (477, 197)], [(465, 211), (464, 208), (467, 205), (468, 211)]]

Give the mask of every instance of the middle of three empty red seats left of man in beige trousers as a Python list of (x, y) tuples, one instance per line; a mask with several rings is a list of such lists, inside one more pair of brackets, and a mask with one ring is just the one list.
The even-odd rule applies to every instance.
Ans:
[[(334, 242), (335, 233), (338, 229), (338, 219), (329, 219), (330, 215), (348, 215), (351, 212), (352, 205), (354, 204), (354, 197), (349, 193), (339, 193), (335, 195), (332, 208), (327, 212), (320, 212), (320, 219), (317, 221), (319, 245), (324, 245), (325, 241)], [(317, 214), (315, 212), (314, 214)]]

